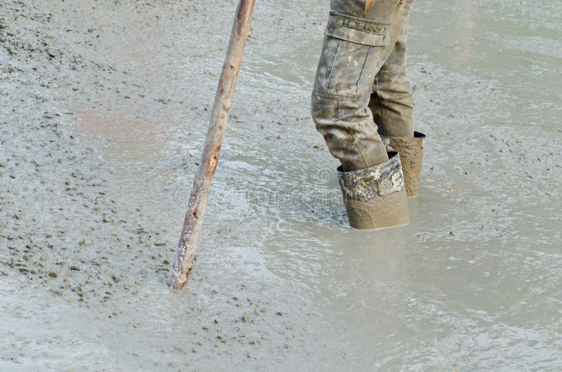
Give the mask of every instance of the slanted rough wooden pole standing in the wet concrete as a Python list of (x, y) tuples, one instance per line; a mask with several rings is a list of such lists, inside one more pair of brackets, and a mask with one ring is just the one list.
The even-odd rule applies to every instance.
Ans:
[(221, 79), (218, 81), (211, 123), (207, 131), (199, 169), (193, 181), (188, 212), (185, 214), (185, 220), (183, 221), (183, 231), (178, 244), (174, 269), (168, 282), (168, 286), (173, 289), (181, 289), (185, 286), (193, 265), (195, 248), (199, 240), (205, 206), (207, 206), (207, 198), (211, 191), (216, 165), (218, 164), (218, 156), (221, 153), (228, 112), (233, 100), (255, 3), (256, 0), (238, 1), (223, 72), (221, 73)]

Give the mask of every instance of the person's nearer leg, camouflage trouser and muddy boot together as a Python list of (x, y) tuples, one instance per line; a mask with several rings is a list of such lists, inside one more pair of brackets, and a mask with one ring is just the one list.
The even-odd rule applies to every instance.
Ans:
[(409, 222), (400, 157), (388, 159), (368, 107), (374, 78), (405, 27), (412, 0), (332, 0), (316, 74), (312, 114), (341, 161), (339, 183), (350, 225)]

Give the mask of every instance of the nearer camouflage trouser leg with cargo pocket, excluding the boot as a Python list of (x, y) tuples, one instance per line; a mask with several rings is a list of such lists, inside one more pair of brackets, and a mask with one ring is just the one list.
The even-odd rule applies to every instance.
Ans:
[[(412, 0), (332, 0), (312, 115), (344, 171), (388, 160), (368, 107), (374, 79), (405, 29)], [(367, 4), (369, 1), (367, 1)]]

